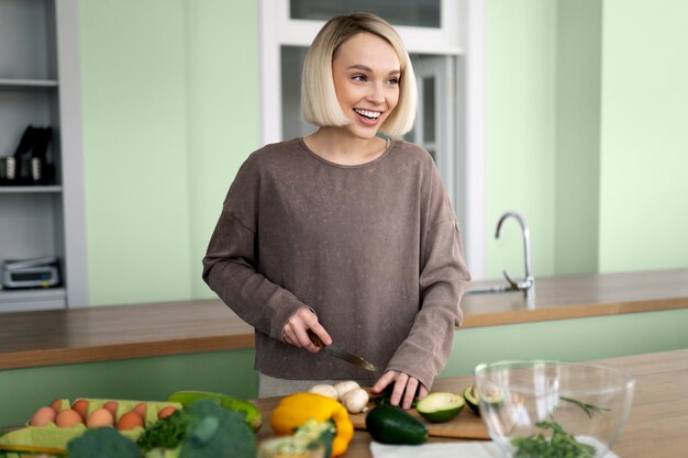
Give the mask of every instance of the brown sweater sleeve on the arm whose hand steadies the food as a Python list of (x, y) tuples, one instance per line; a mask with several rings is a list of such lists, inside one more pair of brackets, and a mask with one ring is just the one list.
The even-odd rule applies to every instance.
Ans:
[(458, 223), (439, 177), (430, 198), (428, 227), (421, 241), (420, 310), (387, 370), (408, 373), (430, 390), (450, 357), (463, 320), (460, 298), (470, 281)]

